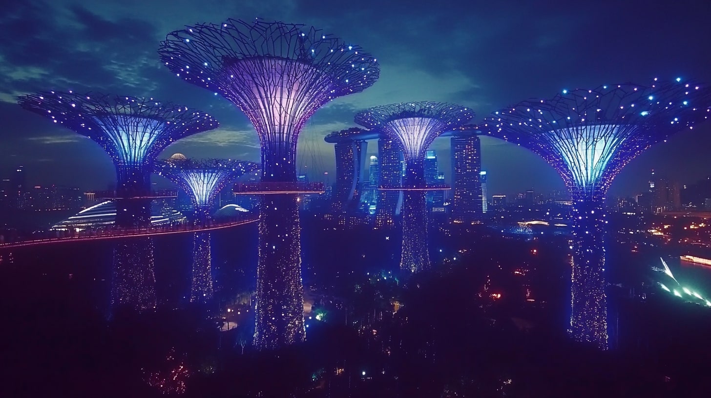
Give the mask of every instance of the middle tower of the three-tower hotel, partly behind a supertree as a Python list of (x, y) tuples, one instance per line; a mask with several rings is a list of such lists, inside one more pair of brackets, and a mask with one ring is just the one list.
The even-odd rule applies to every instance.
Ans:
[[(400, 164), (400, 144), (395, 139), (378, 139), (380, 156), (380, 181), (378, 185), (397, 186), (402, 183)], [(395, 216), (402, 208), (402, 191), (378, 190), (378, 208), (375, 210), (375, 227), (387, 228), (395, 225)]]

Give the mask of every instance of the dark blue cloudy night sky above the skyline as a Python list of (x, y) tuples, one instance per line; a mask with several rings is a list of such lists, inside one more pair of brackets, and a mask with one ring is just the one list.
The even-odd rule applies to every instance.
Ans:
[[(196, 107), (222, 124), (161, 155), (259, 161), (257, 134), (227, 100), (183, 82), (159, 63), (166, 33), (226, 18), (306, 23), (357, 43), (380, 62), (380, 80), (321, 108), (301, 132), (299, 168), (333, 176), (323, 137), (352, 127), (355, 112), (401, 101), (496, 109), (562, 89), (651, 77), (711, 82), (711, 1), (5, 0), (0, 12), (0, 177), (23, 165), (28, 183), (106, 188), (114, 170), (100, 147), (16, 105), (38, 90), (154, 97)], [(612, 195), (643, 190), (655, 168), (692, 183), (711, 175), (711, 126), (685, 131), (631, 162)], [(435, 141), (449, 179), (449, 140)], [(371, 141), (370, 151), (377, 151)], [(562, 189), (538, 156), (482, 140), (489, 194)], [(331, 177), (333, 181), (333, 177)]]

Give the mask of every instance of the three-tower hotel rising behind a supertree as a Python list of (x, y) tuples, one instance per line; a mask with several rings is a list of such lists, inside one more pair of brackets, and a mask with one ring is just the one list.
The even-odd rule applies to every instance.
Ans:
[[(481, 131), (474, 125), (447, 131), (440, 136), (451, 137), (451, 218), (454, 222), (472, 222), (481, 216)], [(368, 141), (378, 140), (379, 173), (370, 176), (376, 187), (400, 185), (402, 179), (402, 149), (397, 141), (380, 131), (353, 127), (334, 131), (325, 138), (335, 144), (336, 183), (332, 203), (336, 211), (351, 212), (359, 208), (368, 181)], [(373, 170), (371, 170), (371, 173)], [(375, 180), (375, 181), (373, 181)], [(376, 188), (377, 189), (377, 188)], [(375, 227), (393, 225), (400, 214), (402, 190), (378, 190), (375, 206)]]

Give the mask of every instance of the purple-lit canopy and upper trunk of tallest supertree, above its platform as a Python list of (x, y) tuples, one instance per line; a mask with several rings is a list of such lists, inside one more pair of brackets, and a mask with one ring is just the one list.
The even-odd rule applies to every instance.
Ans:
[(259, 19), (187, 26), (169, 33), (159, 54), (178, 77), (245, 112), (262, 144), (262, 181), (295, 181), (296, 140), (306, 120), (380, 75), (377, 60), (358, 45)]

